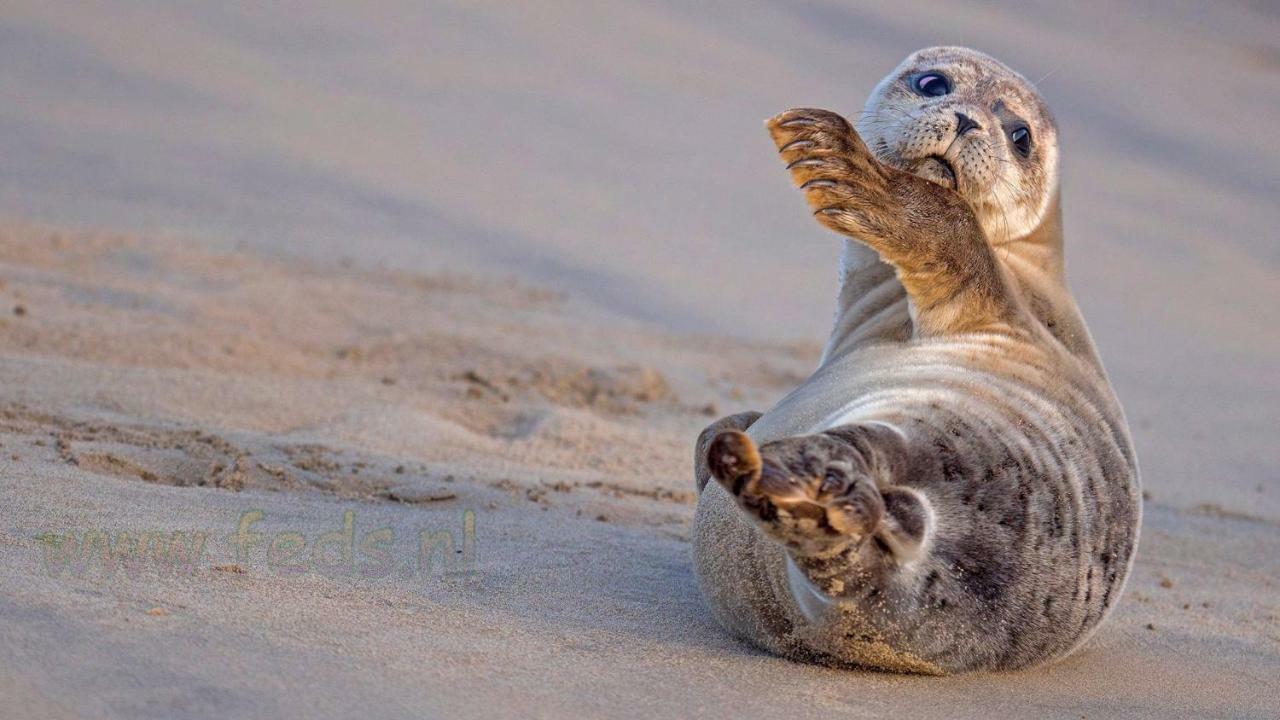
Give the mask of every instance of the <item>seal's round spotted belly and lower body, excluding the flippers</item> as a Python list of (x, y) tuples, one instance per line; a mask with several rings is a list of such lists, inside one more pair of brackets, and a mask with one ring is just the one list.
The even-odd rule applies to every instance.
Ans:
[(892, 670), (1065, 655), (1119, 596), (1138, 525), (1128, 434), (1093, 372), (1000, 336), (874, 346), (819, 369), (748, 434), (901, 429), (918, 461), (897, 483), (936, 512), (928, 556), (873, 594), (824, 594), (713, 483), (694, 542), (717, 618), (781, 655)]

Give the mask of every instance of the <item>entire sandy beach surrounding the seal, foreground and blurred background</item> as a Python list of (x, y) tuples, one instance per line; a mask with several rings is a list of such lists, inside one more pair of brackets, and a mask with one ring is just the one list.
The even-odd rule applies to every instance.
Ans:
[[(1101, 6), (13, 3), (0, 715), (1274, 717), (1280, 19)], [(1048, 667), (796, 665), (689, 557), (835, 295), (760, 119), (943, 41), (1048, 76), (1138, 561)]]

